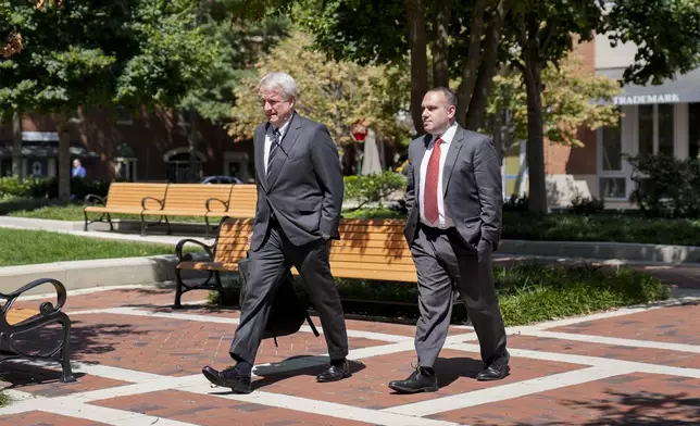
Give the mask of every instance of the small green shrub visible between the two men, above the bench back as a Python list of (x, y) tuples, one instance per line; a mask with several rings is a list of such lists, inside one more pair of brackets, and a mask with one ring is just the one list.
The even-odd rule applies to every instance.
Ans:
[(358, 209), (376, 202), (383, 206), (383, 201), (392, 192), (405, 188), (405, 177), (396, 172), (386, 171), (382, 174), (346, 176), (345, 198), (358, 202)]

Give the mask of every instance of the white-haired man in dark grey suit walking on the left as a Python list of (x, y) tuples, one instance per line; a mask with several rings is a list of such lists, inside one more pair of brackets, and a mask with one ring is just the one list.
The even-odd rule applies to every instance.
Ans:
[(234, 368), (202, 374), (214, 385), (251, 391), (251, 372), (270, 306), (286, 271), (296, 266), (323, 326), (330, 365), (317, 381), (350, 376), (348, 335), (328, 264), (329, 240), (339, 238), (343, 185), (328, 128), (295, 112), (297, 84), (285, 73), (260, 82), (267, 122), (255, 129), (258, 205), (251, 237), (248, 292), (229, 353)]

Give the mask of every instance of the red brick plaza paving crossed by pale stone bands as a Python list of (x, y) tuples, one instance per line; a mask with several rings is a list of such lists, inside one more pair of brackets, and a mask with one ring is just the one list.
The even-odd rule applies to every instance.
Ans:
[[(665, 270), (662, 270), (665, 271)], [(698, 275), (668, 275), (677, 288)], [(680, 281), (680, 276), (686, 276)], [(690, 277), (690, 278), (688, 278)], [(482, 364), (468, 327), (453, 326), (436, 365), (440, 390), (392, 394), (411, 373), (413, 326), (348, 321), (353, 376), (316, 384), (325, 342), (308, 329), (263, 341), (253, 393), (211, 387), (203, 365), (232, 364), (237, 311), (173, 311), (172, 289), (76, 291), (77, 383), (53, 368), (0, 365), (15, 400), (0, 425), (622, 425), (697, 424), (700, 418), (700, 299), (509, 328), (512, 374), (474, 379)], [(37, 306), (39, 299), (22, 302)], [(318, 324), (316, 320), (316, 324)], [(9, 371), (9, 367), (12, 367)]]

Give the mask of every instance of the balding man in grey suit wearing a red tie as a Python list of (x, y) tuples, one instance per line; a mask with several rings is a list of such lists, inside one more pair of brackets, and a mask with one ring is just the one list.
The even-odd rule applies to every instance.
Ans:
[(427, 135), (409, 148), (409, 209), (404, 235), (417, 270), (421, 318), (415, 333), (418, 366), (389, 387), (398, 392), (436, 391), (433, 368), (445, 344), (454, 288), (466, 303), (482, 349), (479, 380), (510, 371), (491, 252), (501, 233), (502, 184), (499, 154), (487, 136), (454, 122), (455, 95), (436, 88), (423, 98)]

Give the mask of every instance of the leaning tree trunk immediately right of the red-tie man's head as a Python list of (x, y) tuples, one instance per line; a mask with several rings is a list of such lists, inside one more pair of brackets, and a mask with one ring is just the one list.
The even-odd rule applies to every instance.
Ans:
[(484, 10), (486, 0), (477, 0), (472, 14), (472, 26), (470, 32), (470, 51), (467, 53), (464, 70), (462, 71), (462, 83), (457, 89), (457, 122), (461, 126), (466, 125), (466, 110), (472, 101), (476, 73), (482, 63), (482, 28), (484, 27)]

